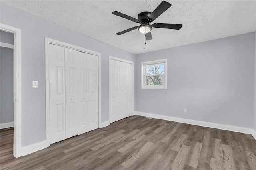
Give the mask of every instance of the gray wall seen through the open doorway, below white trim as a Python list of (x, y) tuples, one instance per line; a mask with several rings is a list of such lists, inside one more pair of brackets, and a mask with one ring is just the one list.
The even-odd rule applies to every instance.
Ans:
[(0, 123), (7, 122), (13, 122), (13, 49), (0, 47)]

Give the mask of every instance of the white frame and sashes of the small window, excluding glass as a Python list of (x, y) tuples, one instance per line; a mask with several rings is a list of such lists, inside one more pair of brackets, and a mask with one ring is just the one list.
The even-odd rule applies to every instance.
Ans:
[[(146, 65), (157, 65), (164, 63), (164, 85), (163, 86), (147, 86), (146, 85)], [(141, 89), (167, 89), (167, 59), (159, 59), (154, 61), (144, 61), (141, 62)], [(154, 76), (154, 75), (150, 75)]]

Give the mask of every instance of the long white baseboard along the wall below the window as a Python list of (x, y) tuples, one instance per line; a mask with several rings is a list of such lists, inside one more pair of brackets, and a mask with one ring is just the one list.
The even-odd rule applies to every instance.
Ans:
[[(198, 126), (202, 126), (202, 127), (218, 128), (218, 129), (222, 129), (222, 130), (229, 130), (232, 132), (239, 132), (239, 133), (245, 133), (245, 134), (252, 134), (252, 136), (253, 136), (253, 132), (255, 132), (251, 128), (236, 127), (236, 126), (231, 126), (231, 125), (223, 125), (223, 124), (218, 124), (218, 123), (196, 121), (196, 120), (192, 120), (192, 119), (184, 119), (184, 118), (170, 117), (170, 116), (164, 116), (164, 115), (156, 115), (156, 114), (152, 114), (152, 113), (144, 113), (144, 112), (135, 112), (135, 113), (136, 113), (136, 115), (145, 116), (145, 117), (153, 117), (156, 119), (163, 119), (163, 120), (167, 120), (167, 121), (187, 123), (187, 124), (198, 125)], [(256, 134), (255, 134), (254, 138), (256, 139)]]

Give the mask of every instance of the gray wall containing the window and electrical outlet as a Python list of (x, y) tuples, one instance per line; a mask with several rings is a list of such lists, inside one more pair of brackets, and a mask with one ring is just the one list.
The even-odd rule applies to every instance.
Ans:
[[(136, 55), (136, 111), (253, 128), (254, 44), (252, 32)], [(165, 58), (168, 89), (141, 89), (141, 62)]]

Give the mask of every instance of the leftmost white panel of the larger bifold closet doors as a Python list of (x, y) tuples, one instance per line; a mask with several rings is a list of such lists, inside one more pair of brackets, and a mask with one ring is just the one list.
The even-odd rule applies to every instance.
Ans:
[(50, 144), (66, 139), (65, 50), (49, 44)]

